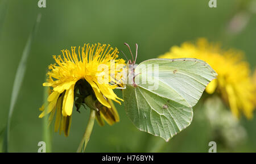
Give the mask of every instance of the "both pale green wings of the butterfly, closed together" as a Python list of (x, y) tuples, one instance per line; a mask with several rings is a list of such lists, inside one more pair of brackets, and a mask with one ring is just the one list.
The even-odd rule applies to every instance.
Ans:
[(137, 87), (123, 90), (127, 115), (139, 130), (168, 141), (191, 123), (192, 107), (217, 74), (195, 58), (159, 58), (139, 64), (135, 75)]

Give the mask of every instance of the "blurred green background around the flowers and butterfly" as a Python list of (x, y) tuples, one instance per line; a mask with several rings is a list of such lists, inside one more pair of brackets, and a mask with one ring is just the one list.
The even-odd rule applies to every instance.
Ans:
[[(3, 0), (0, 4), (3, 5)], [(16, 69), (28, 35), (38, 13), (42, 13), (38, 33), (32, 43), (27, 70), (11, 121), (10, 152), (37, 152), (43, 140), (43, 120), (39, 107), (43, 103), (44, 82), (52, 55), (60, 50), (84, 43), (106, 43), (126, 52), (124, 42), (138, 43), (138, 60), (155, 58), (172, 45), (206, 37), (222, 43), (224, 48), (241, 49), (251, 69), (255, 68), (256, 14), (255, 1), (217, 0), (217, 8), (209, 8), (208, 0), (183, 1), (82, 1), (46, 0), (39, 8), (37, 0), (9, 0), (0, 17), (0, 131), (6, 125), (11, 90)], [(253, 6), (254, 5), (254, 6)], [(245, 13), (232, 30), (230, 21)], [(4, 13), (3, 10), (0, 13)], [(245, 19), (243, 21), (243, 19)], [(240, 19), (238, 19), (240, 20)], [(133, 49), (135, 49), (133, 47)], [(120, 54), (121, 57), (122, 54)], [(123, 57), (124, 58), (124, 57)], [(121, 92), (117, 94), (121, 97)], [(197, 119), (169, 142), (140, 132), (117, 104), (121, 121), (113, 126), (94, 126), (87, 152), (208, 152), (212, 131), (207, 120)], [(254, 112), (255, 113), (255, 112)], [(69, 137), (54, 133), (52, 152), (75, 152), (88, 121), (89, 111), (74, 110)], [(247, 139), (235, 148), (218, 146), (217, 152), (256, 152), (256, 119), (241, 118)]]

